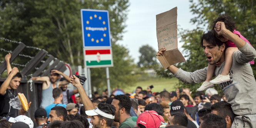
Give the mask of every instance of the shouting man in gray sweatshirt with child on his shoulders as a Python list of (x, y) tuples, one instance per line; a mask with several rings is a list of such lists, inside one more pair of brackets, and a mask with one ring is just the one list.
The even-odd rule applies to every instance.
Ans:
[[(228, 103), (232, 106), (235, 117), (232, 128), (251, 127), (256, 128), (256, 81), (253, 70), (248, 62), (256, 58), (256, 50), (243, 39), (226, 29), (224, 22), (218, 35), (228, 38), (239, 50), (233, 53), (233, 63), (230, 69), (230, 81), (220, 83)], [(225, 43), (218, 40), (212, 32), (204, 33), (201, 38), (201, 46), (209, 63), (220, 63), (216, 67), (214, 75), (221, 73), (225, 64)], [(157, 55), (162, 55), (166, 49), (162, 48)], [(183, 71), (174, 65), (168, 70), (184, 83), (200, 83), (206, 79), (207, 67), (194, 72)]]

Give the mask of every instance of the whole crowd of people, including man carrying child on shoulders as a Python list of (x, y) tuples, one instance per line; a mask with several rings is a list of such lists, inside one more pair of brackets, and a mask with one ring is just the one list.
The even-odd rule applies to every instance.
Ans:
[[(189, 88), (152, 92), (138, 86), (134, 93), (108, 96), (94, 93), (89, 98), (79, 78), (52, 69), (50, 77), (32, 77), (42, 81), (42, 101), (32, 117), (19, 115), (9, 105), (22, 75), (11, 68), (11, 54), (5, 56), (7, 78), (0, 86), (0, 126), (3, 128), (256, 128), (256, 81), (252, 64), (256, 50), (234, 30), (230, 17), (221, 15), (212, 30), (201, 37), (201, 47), (209, 62), (208, 68), (186, 72), (174, 65), (168, 70), (184, 83), (200, 83), (197, 92)], [(233, 23), (233, 24), (232, 24)], [(231, 43), (237, 48), (232, 47)], [(158, 51), (162, 55), (165, 48)], [(225, 53), (228, 52), (228, 53)], [(225, 62), (228, 62), (227, 64)], [(250, 62), (250, 63), (249, 63)], [(231, 64), (230, 64), (231, 63)], [(215, 66), (214, 66), (215, 65)], [(230, 70), (227, 74), (226, 70)], [(60, 78), (60, 76), (63, 76)], [(212, 76), (217, 76), (211, 80)], [(71, 83), (75, 90), (68, 90)], [(218, 83), (223, 94), (214, 88)], [(85, 85), (86, 86), (86, 85)], [(205, 90), (205, 91), (204, 91)], [(31, 102), (28, 103), (30, 106)], [(15, 115), (18, 115), (15, 117)]]

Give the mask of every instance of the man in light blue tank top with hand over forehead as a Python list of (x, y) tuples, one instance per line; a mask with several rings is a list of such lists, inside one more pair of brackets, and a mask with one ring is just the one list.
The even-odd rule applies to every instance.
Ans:
[[(59, 76), (62, 75), (66, 79), (65, 81), (59, 81)], [(66, 85), (70, 81), (69, 76), (65, 75), (61, 71), (56, 69), (50, 70), (50, 78), (48, 76), (42, 77), (32, 77), (31, 80), (43, 81), (42, 86), (42, 101), (40, 108), (45, 108), (54, 102), (52, 97), (52, 90), (57, 87), (57, 85)], [(59, 82), (58, 82), (59, 81)]]

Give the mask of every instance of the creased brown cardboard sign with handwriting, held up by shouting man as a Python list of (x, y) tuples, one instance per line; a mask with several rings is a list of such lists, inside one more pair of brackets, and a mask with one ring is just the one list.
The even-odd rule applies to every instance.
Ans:
[(157, 56), (164, 69), (175, 63), (186, 62), (178, 50), (177, 7), (156, 15), (156, 36), (158, 50), (166, 48), (163, 56)]

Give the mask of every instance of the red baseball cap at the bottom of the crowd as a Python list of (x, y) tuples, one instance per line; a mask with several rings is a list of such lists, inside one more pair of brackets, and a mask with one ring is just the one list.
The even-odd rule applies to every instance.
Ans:
[(138, 124), (144, 125), (146, 128), (159, 128), (160, 125), (164, 122), (164, 118), (157, 114), (156, 111), (144, 111), (137, 118), (137, 126)]

